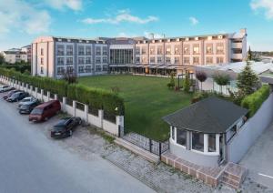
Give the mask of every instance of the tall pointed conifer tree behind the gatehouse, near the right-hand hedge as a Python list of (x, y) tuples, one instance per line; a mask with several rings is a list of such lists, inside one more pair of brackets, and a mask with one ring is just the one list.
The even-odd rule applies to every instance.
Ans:
[(238, 90), (244, 95), (248, 96), (259, 87), (259, 79), (255, 72), (251, 69), (251, 63), (247, 61), (244, 70), (238, 74), (237, 78)]

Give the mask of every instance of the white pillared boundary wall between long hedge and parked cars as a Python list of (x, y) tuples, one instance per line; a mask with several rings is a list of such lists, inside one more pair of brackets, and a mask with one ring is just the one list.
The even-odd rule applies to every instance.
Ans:
[[(49, 100), (57, 100), (57, 95), (54, 95), (54, 98), (50, 97), (50, 92), (44, 92), (43, 89), (40, 89), (37, 87), (29, 86), (25, 83), (21, 83), (18, 81), (15, 81), (11, 78), (7, 78), (5, 76), (0, 76), (0, 82), (13, 86), (16, 89), (24, 90), (25, 92), (29, 93), (31, 96), (35, 96), (41, 101), (49, 101)], [(111, 121), (108, 121), (104, 118), (104, 110), (100, 109), (98, 110), (98, 113), (96, 115), (92, 115), (88, 112), (88, 106), (84, 105), (84, 111), (81, 109), (78, 109), (76, 107), (76, 101), (73, 101), (72, 107), (69, 106), (66, 103), (66, 97), (63, 97), (62, 100), (60, 100), (61, 106), (62, 106), (62, 111), (66, 112), (70, 116), (76, 116), (76, 117), (81, 117), (86, 121), (86, 123), (89, 123), (92, 126), (102, 128), (106, 130), (107, 132), (118, 136), (119, 132), (119, 127), (124, 127), (124, 117), (123, 116), (116, 116), (116, 123), (113, 123)]]

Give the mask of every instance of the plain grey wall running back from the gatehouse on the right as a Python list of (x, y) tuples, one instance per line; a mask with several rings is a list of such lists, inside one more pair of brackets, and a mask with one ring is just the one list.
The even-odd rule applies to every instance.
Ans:
[(258, 137), (272, 122), (273, 118), (273, 94), (258, 109), (258, 112), (248, 119), (243, 127), (238, 130), (227, 144), (227, 160), (238, 163), (248, 152)]

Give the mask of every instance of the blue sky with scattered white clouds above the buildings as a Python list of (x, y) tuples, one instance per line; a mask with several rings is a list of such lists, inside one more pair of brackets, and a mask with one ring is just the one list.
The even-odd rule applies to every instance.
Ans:
[(273, 0), (0, 0), (0, 50), (37, 36), (198, 36), (248, 29), (273, 51)]

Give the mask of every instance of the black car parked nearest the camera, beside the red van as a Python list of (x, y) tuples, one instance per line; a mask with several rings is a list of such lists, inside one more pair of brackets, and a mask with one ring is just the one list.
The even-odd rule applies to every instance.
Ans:
[(51, 137), (61, 138), (72, 136), (73, 130), (82, 124), (80, 117), (62, 118), (50, 132)]

